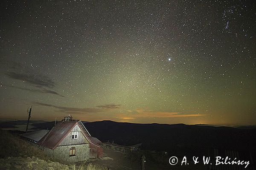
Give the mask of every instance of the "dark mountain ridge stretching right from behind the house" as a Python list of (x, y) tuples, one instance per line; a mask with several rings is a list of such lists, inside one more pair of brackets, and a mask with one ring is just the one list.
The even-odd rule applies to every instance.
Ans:
[[(133, 124), (112, 121), (87, 123), (92, 136), (119, 144), (143, 143), (147, 150), (172, 147), (253, 147), (255, 129), (212, 127), (198, 125)], [(254, 140), (253, 140), (254, 139)], [(247, 145), (247, 146), (245, 146)]]

